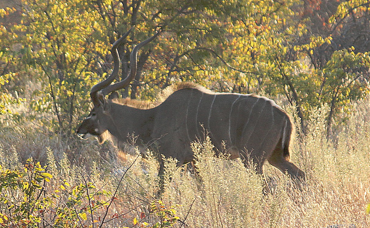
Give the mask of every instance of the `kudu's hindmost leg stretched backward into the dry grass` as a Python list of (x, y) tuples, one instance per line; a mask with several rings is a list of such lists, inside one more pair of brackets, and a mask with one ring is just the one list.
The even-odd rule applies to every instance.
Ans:
[(305, 171), (299, 169), (292, 161), (289, 160), (289, 157), (284, 157), (281, 149), (275, 149), (268, 158), (268, 161), (272, 166), (275, 166), (283, 173), (287, 172), (295, 181), (300, 190), (303, 189), (303, 185), (306, 183)]

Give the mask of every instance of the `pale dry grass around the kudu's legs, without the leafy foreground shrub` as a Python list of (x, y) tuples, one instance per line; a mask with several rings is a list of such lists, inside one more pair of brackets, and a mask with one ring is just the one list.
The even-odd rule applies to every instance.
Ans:
[[(176, 210), (184, 224), (178, 222), (175, 226), (369, 227), (370, 215), (366, 214), (370, 203), (369, 104), (367, 99), (354, 105), (335, 144), (326, 140), (326, 108), (311, 110), (309, 132), (304, 137), (297, 135), (292, 145), (292, 160), (307, 172), (304, 191), (296, 190), (288, 177), (266, 164), (265, 173), (271, 179), (273, 193), (263, 195), (261, 177), (253, 169), (245, 169), (239, 159), (214, 157), (209, 141), (193, 145), (199, 176), (185, 168), (176, 170), (175, 161), (167, 160), (162, 200), (166, 205), (180, 204)], [(128, 156), (126, 161), (116, 161), (111, 146), (101, 147), (94, 141), (68, 142), (68, 147), (37, 122), (20, 125), (19, 121), (2, 118), (1, 165), (14, 168), (27, 157), (36, 156), (49, 163), (50, 172), (54, 172), (55, 186), (50, 189), (57, 187), (59, 180), (77, 184), (82, 177), (89, 176), (97, 187), (115, 191), (122, 174), (136, 158)], [(158, 220), (148, 210), (158, 191), (157, 169), (154, 156), (134, 162), (122, 179), (117, 200), (109, 212), (127, 214), (107, 227), (132, 227), (135, 217), (153, 224)]]

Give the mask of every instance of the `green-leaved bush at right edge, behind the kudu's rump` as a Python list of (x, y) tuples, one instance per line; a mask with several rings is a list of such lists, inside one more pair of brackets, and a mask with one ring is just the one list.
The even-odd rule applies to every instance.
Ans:
[[(325, 104), (330, 106), (327, 117), (327, 136), (330, 136), (332, 124), (340, 125), (346, 118), (339, 118), (349, 113), (351, 103), (363, 99), (369, 93), (369, 80), (364, 72), (369, 69), (370, 59), (368, 52), (354, 52), (354, 48), (335, 51), (322, 69), (287, 73), (289, 86), (294, 86), (297, 99), (286, 93), (291, 104), (295, 103), (304, 112), (301, 127), (306, 129), (307, 121), (312, 108), (319, 108)], [(297, 62), (296, 68), (302, 68)], [(294, 69), (290, 68), (290, 72)], [(291, 95), (291, 96), (294, 96)], [(299, 111), (299, 110), (298, 110)], [(299, 114), (299, 113), (298, 113)]]

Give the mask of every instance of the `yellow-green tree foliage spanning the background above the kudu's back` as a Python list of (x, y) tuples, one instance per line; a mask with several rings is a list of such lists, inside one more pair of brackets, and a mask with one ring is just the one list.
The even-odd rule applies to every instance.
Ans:
[[(308, 32), (312, 29), (310, 23), (315, 23), (314, 12), (320, 11), (324, 4), (321, 1), (302, 4), (297, 0), (222, 3), (33, 0), (23, 3), (23, 21), (12, 27), (1, 27), (4, 57), (0, 62), (6, 70), (1, 83), (12, 77), (17, 81), (23, 72), (36, 72), (42, 88), (34, 92), (31, 107), (37, 112), (53, 113), (56, 118), (44, 119), (43, 124), (67, 138), (90, 107), (91, 86), (112, 70), (108, 49), (132, 26), (135, 28), (118, 50), (122, 70), (117, 80), (125, 78), (130, 70), (132, 48), (155, 30), (160, 29), (161, 34), (139, 52), (137, 75), (131, 86), (121, 91), (122, 96), (152, 100), (160, 89), (180, 80), (198, 82), (219, 91), (283, 94), (291, 105), (296, 105), (300, 128), (305, 132), (312, 107), (335, 101), (328, 118), (329, 129), (333, 121), (343, 121), (339, 110), (349, 100), (356, 101), (369, 90), (366, 74), (362, 79), (353, 78), (356, 81), (350, 88), (353, 96), (347, 96), (345, 89), (339, 89), (331, 97), (330, 92), (324, 91), (334, 91), (327, 86), (333, 74), (326, 72), (340, 67), (337, 53), (345, 52), (347, 46), (343, 45), (338, 52), (326, 51), (330, 56), (316, 64), (322, 50), (334, 47), (332, 43), (338, 42), (340, 34)], [(322, 26), (342, 31), (341, 23), (349, 20), (348, 15), (361, 16), (361, 12), (365, 15), (367, 5), (367, 1), (336, 3), (333, 7), (338, 6), (338, 10)], [(13, 11), (3, 9), (1, 16)], [(312, 18), (307, 17), (310, 15)], [(19, 51), (11, 50), (14, 40), (20, 44)], [(356, 50), (349, 52), (356, 55)], [(351, 68), (349, 71), (356, 71), (363, 60), (356, 57), (353, 61), (359, 62), (346, 66)], [(19, 66), (10, 70), (11, 62)], [(366, 72), (367, 67), (362, 64), (361, 71)], [(340, 86), (347, 87), (346, 82)], [(16, 99), (7, 91), (2, 93), (5, 99), (1, 106), (21, 101), (17, 93), (12, 94)], [(342, 99), (343, 96), (346, 98)], [(4, 112), (4, 108), (1, 110)]]

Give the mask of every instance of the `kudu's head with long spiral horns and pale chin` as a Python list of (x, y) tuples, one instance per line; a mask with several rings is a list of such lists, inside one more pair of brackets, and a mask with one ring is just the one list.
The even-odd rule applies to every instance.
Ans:
[(128, 76), (122, 81), (111, 85), (114, 79), (117, 78), (118, 71), (120, 69), (121, 61), (117, 48), (122, 44), (123, 41), (125, 41), (132, 28), (121, 38), (115, 41), (112, 46), (111, 53), (114, 60), (114, 69), (112, 74), (109, 75), (107, 79), (99, 82), (91, 88), (90, 97), (92, 103), (94, 104), (94, 108), (77, 129), (77, 134), (81, 137), (81, 139), (96, 137), (99, 140), (99, 143), (103, 143), (107, 139), (109, 135), (108, 126), (114, 126), (114, 123), (112, 122), (112, 112), (115, 110), (112, 109), (111, 99), (105, 99), (105, 96), (109, 93), (117, 91), (118, 89), (125, 88), (130, 84), (130, 82), (136, 76), (138, 51), (144, 45), (154, 40), (154, 38), (156, 38), (161, 32), (161, 30), (157, 31), (155, 35), (139, 43), (132, 49), (130, 56), (130, 72), (128, 73)]

